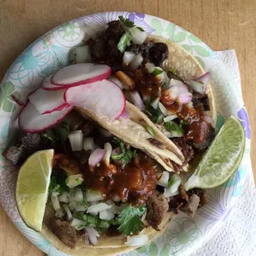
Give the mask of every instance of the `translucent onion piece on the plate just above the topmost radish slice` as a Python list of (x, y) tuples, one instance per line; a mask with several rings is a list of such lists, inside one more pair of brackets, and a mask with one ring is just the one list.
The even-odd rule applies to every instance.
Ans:
[(69, 62), (72, 64), (92, 62), (89, 45), (78, 45), (69, 51)]

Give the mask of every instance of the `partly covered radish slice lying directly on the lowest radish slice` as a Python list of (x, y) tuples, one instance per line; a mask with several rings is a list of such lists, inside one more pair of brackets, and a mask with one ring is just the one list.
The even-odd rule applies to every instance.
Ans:
[(61, 111), (69, 104), (64, 101), (65, 90), (46, 91), (43, 88), (38, 88), (28, 98), (41, 114), (50, 114), (53, 111)]

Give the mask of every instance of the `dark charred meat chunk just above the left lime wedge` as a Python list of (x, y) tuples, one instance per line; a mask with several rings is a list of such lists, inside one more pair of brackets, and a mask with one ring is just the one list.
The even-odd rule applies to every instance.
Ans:
[(11, 161), (13, 165), (21, 165), (33, 153), (45, 149), (45, 140), (40, 134), (23, 134), (12, 145), (2, 151), (2, 156)]

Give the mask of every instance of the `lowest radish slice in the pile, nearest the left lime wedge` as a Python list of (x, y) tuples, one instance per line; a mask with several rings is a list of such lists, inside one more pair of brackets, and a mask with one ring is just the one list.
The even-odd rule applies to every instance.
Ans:
[(19, 116), (19, 126), (26, 132), (38, 133), (57, 125), (72, 109), (73, 107), (65, 107), (61, 111), (40, 115), (36, 107), (31, 102), (28, 102)]

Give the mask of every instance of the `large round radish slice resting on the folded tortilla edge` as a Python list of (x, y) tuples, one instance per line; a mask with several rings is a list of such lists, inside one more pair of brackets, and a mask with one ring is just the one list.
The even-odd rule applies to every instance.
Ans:
[(64, 98), (71, 106), (83, 107), (110, 119), (121, 116), (126, 107), (124, 93), (108, 80), (68, 88)]

